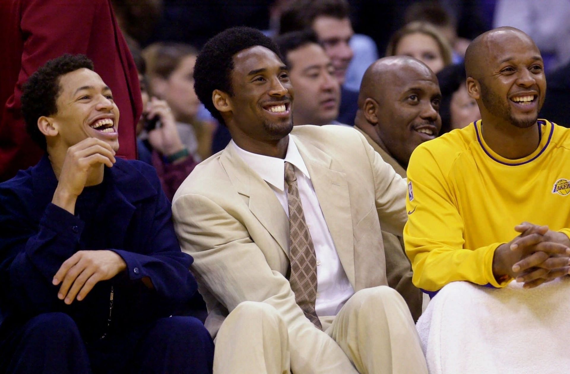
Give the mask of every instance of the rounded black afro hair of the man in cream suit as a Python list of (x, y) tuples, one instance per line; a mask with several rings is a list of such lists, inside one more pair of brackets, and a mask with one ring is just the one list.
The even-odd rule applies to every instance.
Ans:
[(247, 48), (262, 46), (275, 52), (283, 61), (277, 44), (259, 30), (251, 27), (232, 27), (207, 41), (194, 66), (194, 91), (212, 116), (225, 124), (222, 115), (214, 107), (212, 92), (220, 90), (233, 96), (231, 72), (234, 55)]

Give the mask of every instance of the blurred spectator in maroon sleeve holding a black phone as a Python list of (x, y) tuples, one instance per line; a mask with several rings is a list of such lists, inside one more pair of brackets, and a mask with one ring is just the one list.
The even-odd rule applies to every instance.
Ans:
[[(143, 115), (137, 124), (139, 160), (154, 166), (166, 197), (172, 200), (182, 181), (192, 172), (197, 162), (182, 144), (172, 110), (165, 100), (151, 97), (146, 80), (146, 62), (136, 44), (129, 43), (133, 60), (139, 71)], [(141, 139), (141, 138), (144, 138)]]

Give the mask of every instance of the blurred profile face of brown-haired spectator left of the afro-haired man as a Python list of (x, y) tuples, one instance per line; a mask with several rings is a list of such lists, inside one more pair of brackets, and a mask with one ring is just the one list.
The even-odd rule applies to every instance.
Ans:
[(196, 56), (189, 55), (183, 58), (176, 70), (166, 79), (161, 94), (170, 105), (174, 117), (178, 121), (187, 123), (194, 120), (200, 108), (200, 100), (194, 92), (194, 64)]

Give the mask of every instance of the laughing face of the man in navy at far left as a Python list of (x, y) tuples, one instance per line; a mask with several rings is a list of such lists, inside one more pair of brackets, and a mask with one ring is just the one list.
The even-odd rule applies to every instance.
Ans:
[(82, 68), (59, 78), (57, 113), (50, 116), (57, 135), (48, 139), (67, 149), (88, 137), (96, 137), (119, 149), (119, 108), (111, 89), (96, 72)]

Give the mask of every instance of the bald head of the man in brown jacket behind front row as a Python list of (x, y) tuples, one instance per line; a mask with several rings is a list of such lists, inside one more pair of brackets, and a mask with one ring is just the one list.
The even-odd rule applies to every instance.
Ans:
[(412, 152), (441, 129), (441, 92), (433, 71), (410, 56), (377, 60), (364, 73), (355, 125), (408, 166)]

